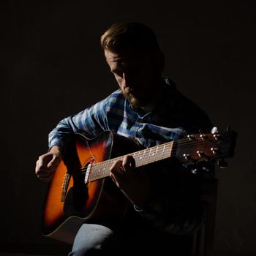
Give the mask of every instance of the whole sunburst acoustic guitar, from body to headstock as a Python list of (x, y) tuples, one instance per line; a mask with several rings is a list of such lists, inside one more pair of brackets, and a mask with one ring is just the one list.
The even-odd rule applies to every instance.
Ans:
[[(204, 163), (233, 157), (236, 132), (196, 133), (151, 148), (141, 148), (135, 140), (113, 132), (95, 138), (76, 133), (50, 181), (42, 209), (43, 236), (72, 244), (83, 222), (120, 220), (129, 204), (127, 197), (108, 177), (110, 167), (127, 154), (136, 167), (175, 157), (192, 173), (208, 171)], [(171, 170), (170, 170), (171, 171)]]

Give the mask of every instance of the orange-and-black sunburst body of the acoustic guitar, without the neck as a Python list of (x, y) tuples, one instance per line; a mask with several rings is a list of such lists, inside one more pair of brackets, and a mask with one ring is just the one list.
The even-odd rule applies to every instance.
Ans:
[[(102, 162), (118, 157), (124, 151), (128, 153), (132, 148), (125, 148), (122, 138), (119, 140), (119, 137), (110, 131), (103, 132), (93, 139), (87, 139), (81, 134), (76, 136), (75, 147), (72, 147), (73, 151), (75, 148), (75, 154), (72, 152), (70, 157), (61, 161), (49, 184), (41, 221), (43, 236), (67, 244), (72, 244), (83, 222), (121, 221), (129, 204), (127, 197), (110, 177), (100, 178), (85, 185), (84, 176), (86, 166), (92, 159), (94, 162)], [(120, 146), (123, 149), (120, 150)], [(85, 173), (81, 175), (80, 170)], [(71, 178), (65, 198), (61, 200), (61, 190), (67, 173), (70, 173)], [(76, 200), (80, 203), (77, 204)]]

